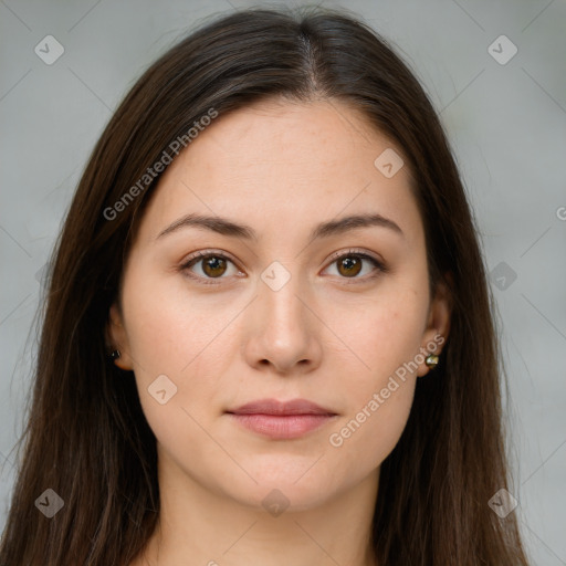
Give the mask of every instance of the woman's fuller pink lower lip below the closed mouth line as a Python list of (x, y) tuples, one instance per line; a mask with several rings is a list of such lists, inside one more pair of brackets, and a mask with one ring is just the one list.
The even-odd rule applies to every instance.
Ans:
[(276, 440), (300, 438), (336, 418), (336, 415), (234, 415), (240, 424)]

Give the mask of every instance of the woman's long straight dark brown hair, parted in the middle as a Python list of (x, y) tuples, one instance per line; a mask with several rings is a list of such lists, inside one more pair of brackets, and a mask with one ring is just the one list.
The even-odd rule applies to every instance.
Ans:
[[(252, 9), (208, 22), (156, 61), (86, 165), (51, 262), (1, 566), (124, 566), (154, 532), (156, 439), (133, 375), (108, 360), (105, 328), (160, 174), (127, 206), (115, 203), (210, 108), (222, 115), (271, 96), (342, 101), (395, 140), (415, 181), (431, 289), (451, 274), (440, 365), (418, 380), (407, 427), (381, 465), (378, 564), (527, 564), (515, 513), (502, 520), (488, 504), (509, 485), (494, 302), (439, 118), (386, 40), (345, 10)], [(64, 502), (52, 518), (35, 506), (46, 489)]]

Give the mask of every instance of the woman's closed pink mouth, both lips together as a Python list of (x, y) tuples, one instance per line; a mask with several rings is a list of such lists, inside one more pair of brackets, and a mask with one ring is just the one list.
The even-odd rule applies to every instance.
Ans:
[(301, 438), (338, 416), (306, 399), (261, 399), (226, 412), (243, 428), (273, 440)]

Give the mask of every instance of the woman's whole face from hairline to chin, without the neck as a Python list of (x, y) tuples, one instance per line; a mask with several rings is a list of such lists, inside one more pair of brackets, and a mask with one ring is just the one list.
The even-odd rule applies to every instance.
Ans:
[[(377, 482), (449, 324), (407, 166), (375, 165), (391, 149), (342, 103), (263, 102), (167, 168), (109, 324), (160, 468), (247, 505), (277, 489), (295, 510)], [(322, 411), (233, 413), (264, 399)]]

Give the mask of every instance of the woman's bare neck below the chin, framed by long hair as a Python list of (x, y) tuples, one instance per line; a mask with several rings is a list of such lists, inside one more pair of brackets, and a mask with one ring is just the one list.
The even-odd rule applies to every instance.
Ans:
[(158, 526), (130, 566), (376, 566), (371, 521), (379, 470), (318, 505), (273, 514), (161, 465)]

